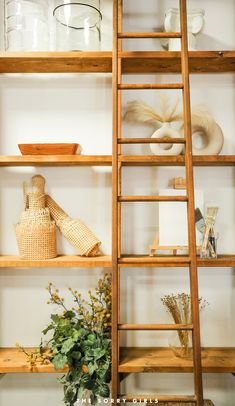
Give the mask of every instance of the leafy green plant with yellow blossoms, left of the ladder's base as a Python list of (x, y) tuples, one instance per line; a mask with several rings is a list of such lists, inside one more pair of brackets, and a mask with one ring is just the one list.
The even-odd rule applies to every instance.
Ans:
[(88, 291), (88, 300), (77, 290), (69, 288), (74, 306), (69, 309), (59, 290), (52, 283), (47, 288), (48, 304), (61, 309), (51, 314), (51, 323), (43, 334), (52, 333), (45, 345), (29, 352), (17, 344), (27, 357), (30, 368), (52, 362), (55, 369), (68, 366), (68, 372), (59, 379), (64, 387), (64, 403), (74, 406), (79, 398), (90, 396), (92, 404), (99, 397), (109, 396), (111, 380), (111, 276), (98, 280), (95, 292)]

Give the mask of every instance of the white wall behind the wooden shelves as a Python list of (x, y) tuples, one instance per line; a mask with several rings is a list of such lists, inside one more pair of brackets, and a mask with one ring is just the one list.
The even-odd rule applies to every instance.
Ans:
[[(176, 2), (129, 0), (125, 28), (159, 27), (164, 11)], [(235, 3), (219, 0), (189, 2), (203, 7), (206, 25), (200, 49), (235, 47)], [(103, 0), (105, 32), (111, 43), (111, 0)], [(130, 10), (134, 9), (131, 20)], [(1, 12), (3, 10), (3, 3)], [(139, 44), (139, 43), (138, 43)], [(143, 42), (141, 42), (143, 45)], [(146, 49), (159, 44), (144, 42)], [(136, 49), (140, 45), (135, 44)], [(131, 45), (126, 45), (131, 49)], [(175, 78), (165, 78), (173, 81)], [(127, 77), (132, 81), (164, 81), (161, 76)], [(192, 104), (206, 103), (224, 131), (224, 154), (235, 153), (235, 77), (193, 76)], [(172, 94), (172, 93), (171, 93)], [(128, 100), (142, 98), (153, 106), (157, 92), (132, 92)], [(84, 154), (111, 153), (111, 75), (2, 75), (0, 77), (0, 153), (18, 154), (20, 142), (78, 142)], [(148, 136), (151, 129), (125, 125), (124, 134)], [(128, 148), (125, 153), (130, 152)], [(134, 153), (147, 153), (138, 147)], [(32, 174), (47, 179), (47, 190), (74, 217), (83, 219), (101, 238), (104, 253), (111, 250), (111, 174), (109, 168), (2, 168), (0, 175), (0, 251), (17, 254), (13, 224), (22, 210), (22, 182)], [(154, 194), (167, 187), (169, 179), (183, 174), (183, 168), (125, 168), (123, 193)], [(204, 191), (205, 202), (220, 206), (217, 230), (220, 253), (235, 251), (235, 177), (233, 168), (196, 168), (195, 184)], [(130, 204), (123, 208), (123, 252), (148, 253), (157, 228), (156, 204)], [(73, 250), (59, 237), (60, 252)], [(53, 281), (64, 292), (73, 286), (85, 292), (95, 285), (101, 269), (12, 269), (0, 272), (0, 345), (37, 345), (40, 332), (52, 310), (46, 305), (45, 287)], [(187, 269), (122, 269), (122, 322), (169, 322), (160, 297), (188, 291)], [(205, 346), (234, 346), (233, 309), (235, 279), (233, 269), (200, 269), (200, 294), (210, 306), (202, 315), (202, 343)], [(168, 345), (167, 333), (129, 333), (127, 345)], [(235, 404), (235, 380), (231, 375), (205, 375), (205, 394), (217, 406)], [(190, 393), (191, 375), (131, 375), (123, 384), (127, 393)], [(62, 405), (62, 388), (55, 375), (7, 375), (0, 381), (0, 405)]]

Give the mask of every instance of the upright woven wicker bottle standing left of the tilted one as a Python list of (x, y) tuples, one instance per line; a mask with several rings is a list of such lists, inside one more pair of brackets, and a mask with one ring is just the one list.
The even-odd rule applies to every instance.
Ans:
[(15, 226), (20, 257), (27, 260), (45, 260), (57, 256), (56, 225), (45, 207), (45, 179), (32, 178), (33, 192), (27, 193), (24, 183), (24, 211)]

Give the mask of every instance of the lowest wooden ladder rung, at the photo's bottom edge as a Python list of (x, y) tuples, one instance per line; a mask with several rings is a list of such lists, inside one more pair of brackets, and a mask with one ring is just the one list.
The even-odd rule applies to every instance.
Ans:
[(132, 403), (133, 400), (136, 400), (138, 402), (153, 402), (154, 399), (158, 400), (158, 403), (168, 403), (168, 402), (182, 402), (182, 403), (190, 403), (190, 402), (197, 402), (197, 397), (196, 396), (180, 396), (180, 395), (119, 395), (118, 398), (121, 400), (121, 402), (125, 403)]

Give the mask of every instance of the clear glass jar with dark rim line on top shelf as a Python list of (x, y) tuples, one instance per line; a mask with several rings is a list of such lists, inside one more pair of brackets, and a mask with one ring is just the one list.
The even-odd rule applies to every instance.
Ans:
[(100, 0), (57, 2), (53, 16), (57, 51), (99, 51)]

